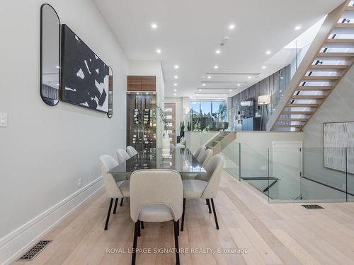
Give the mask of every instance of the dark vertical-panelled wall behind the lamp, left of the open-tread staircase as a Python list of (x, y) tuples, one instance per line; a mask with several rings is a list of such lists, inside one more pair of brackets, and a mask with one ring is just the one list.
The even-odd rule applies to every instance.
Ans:
[(256, 103), (256, 111), (258, 108), (258, 96), (270, 95), (271, 103), (268, 106), (268, 117), (270, 117), (278, 102), (282, 98), (282, 94), (287, 89), (291, 79), (291, 67), (290, 64), (283, 69), (273, 73), (272, 75), (264, 78), (262, 81), (254, 84), (253, 86), (243, 90), (241, 93), (232, 97), (232, 129), (236, 129), (236, 115), (240, 109), (240, 102), (253, 98)]

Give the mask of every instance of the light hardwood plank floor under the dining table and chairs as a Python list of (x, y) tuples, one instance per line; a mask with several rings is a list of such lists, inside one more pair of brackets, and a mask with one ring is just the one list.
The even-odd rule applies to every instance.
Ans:
[[(13, 264), (130, 264), (130, 253), (106, 250), (132, 247), (129, 201), (118, 205), (104, 231), (108, 204), (102, 189), (42, 238), (53, 242), (38, 257)], [(354, 204), (320, 205), (325, 209), (268, 204), (263, 194), (224, 172), (215, 199), (220, 230), (205, 200), (188, 200), (179, 237), (183, 249), (215, 253), (181, 254), (181, 264), (354, 264)], [(172, 248), (173, 223), (146, 223), (138, 247)], [(218, 248), (246, 253), (219, 254)], [(174, 264), (174, 258), (173, 253), (138, 253), (137, 264)]]

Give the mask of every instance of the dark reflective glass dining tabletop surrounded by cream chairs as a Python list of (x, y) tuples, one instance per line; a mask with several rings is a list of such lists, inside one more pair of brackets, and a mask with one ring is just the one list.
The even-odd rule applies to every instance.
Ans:
[(181, 174), (200, 174), (207, 172), (187, 148), (171, 148), (169, 158), (162, 158), (161, 148), (148, 148), (132, 156), (125, 163), (113, 167), (109, 172), (114, 176), (127, 175), (135, 170), (166, 169)]

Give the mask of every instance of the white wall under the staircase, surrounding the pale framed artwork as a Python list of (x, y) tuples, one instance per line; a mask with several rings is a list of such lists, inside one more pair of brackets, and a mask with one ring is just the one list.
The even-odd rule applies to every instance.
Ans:
[[(354, 67), (304, 127), (304, 174), (338, 189), (345, 189), (344, 172), (324, 167), (324, 122), (354, 122)], [(348, 175), (348, 192), (354, 193), (354, 176)]]

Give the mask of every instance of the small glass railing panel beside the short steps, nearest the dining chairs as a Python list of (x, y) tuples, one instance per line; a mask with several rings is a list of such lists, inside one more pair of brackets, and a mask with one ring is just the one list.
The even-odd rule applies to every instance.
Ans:
[(220, 142), (221, 154), (224, 157), (224, 170), (240, 180), (240, 143), (228, 139)]

